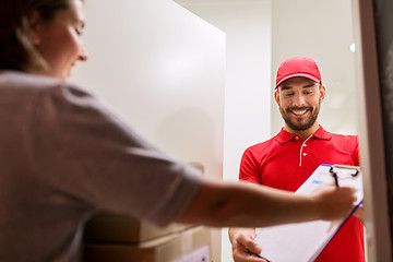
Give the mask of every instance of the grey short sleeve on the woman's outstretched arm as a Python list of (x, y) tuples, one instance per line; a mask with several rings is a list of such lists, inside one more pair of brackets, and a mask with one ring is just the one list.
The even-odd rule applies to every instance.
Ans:
[(39, 92), (26, 130), (32, 133), (32, 172), (78, 209), (164, 225), (188, 207), (201, 183), (195, 169), (153, 146), (75, 86)]

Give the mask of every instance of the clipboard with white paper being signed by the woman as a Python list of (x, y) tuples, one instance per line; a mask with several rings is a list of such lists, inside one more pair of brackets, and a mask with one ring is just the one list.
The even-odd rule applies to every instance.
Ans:
[[(322, 164), (295, 193), (309, 194), (321, 183), (334, 182), (334, 177), (340, 187), (348, 186), (356, 189), (357, 200), (354, 202), (352, 215), (364, 199), (359, 167)], [(259, 257), (269, 262), (287, 262), (294, 258), (302, 262), (314, 261), (349, 216), (340, 221), (313, 221), (263, 227), (254, 238), (262, 247)]]

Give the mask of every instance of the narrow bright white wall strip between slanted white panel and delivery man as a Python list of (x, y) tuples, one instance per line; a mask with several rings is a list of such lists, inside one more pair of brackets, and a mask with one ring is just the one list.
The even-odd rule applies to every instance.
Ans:
[[(176, 0), (227, 36), (224, 179), (238, 180), (242, 152), (270, 138), (271, 1)], [(231, 259), (227, 228), (222, 261)], [(215, 261), (218, 260), (215, 258)]]

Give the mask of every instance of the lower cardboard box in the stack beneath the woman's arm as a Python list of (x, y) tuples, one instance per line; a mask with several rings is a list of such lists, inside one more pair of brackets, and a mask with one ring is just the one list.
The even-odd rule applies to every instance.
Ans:
[[(174, 233), (138, 245), (84, 245), (85, 262), (171, 262), (204, 255), (200, 260), (210, 262), (211, 229), (198, 226), (180, 233)], [(198, 252), (195, 252), (198, 251)], [(207, 258), (205, 258), (205, 253)]]

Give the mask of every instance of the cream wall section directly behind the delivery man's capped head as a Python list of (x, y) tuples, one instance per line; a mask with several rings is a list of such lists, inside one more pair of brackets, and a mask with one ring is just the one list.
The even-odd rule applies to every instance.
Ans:
[[(272, 1), (272, 86), (284, 59), (313, 58), (326, 86), (319, 122), (335, 133), (358, 133), (353, 43), (350, 0)], [(276, 134), (284, 121), (273, 98), (272, 106), (272, 134)]]

